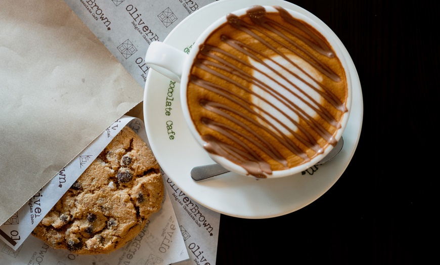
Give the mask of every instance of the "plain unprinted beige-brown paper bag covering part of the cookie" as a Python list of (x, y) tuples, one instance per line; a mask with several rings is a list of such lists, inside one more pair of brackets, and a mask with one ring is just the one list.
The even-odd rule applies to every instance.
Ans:
[(0, 2), (0, 224), (113, 121), (139, 85), (62, 0)]

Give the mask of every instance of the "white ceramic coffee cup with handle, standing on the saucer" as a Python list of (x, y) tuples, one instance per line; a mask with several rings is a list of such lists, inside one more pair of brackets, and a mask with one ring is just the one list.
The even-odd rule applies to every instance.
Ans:
[[(189, 76), (191, 73), (191, 69), (193, 67), (193, 63), (199, 53), (199, 46), (203, 45), (205, 40), (211, 35), (211, 33), (215, 32), (217, 28), (221, 27), (225, 23), (227, 23), (227, 17), (231, 14), (234, 15), (232, 17), (242, 17), (247, 14), (250, 10), (258, 10), (261, 11), (261, 8), (265, 10), (264, 14), (267, 13), (279, 13), (279, 12), (287, 12), (290, 14), (291, 17), (297, 20), (301, 20), (305, 22), (306, 24), (312, 26), (314, 29), (316, 29), (329, 43), (332, 52), (335, 54), (336, 58), (340, 61), (340, 67), (342, 68), (342, 71), (344, 71), (345, 76), (343, 77), (343, 80), (346, 80), (346, 98), (345, 102), (342, 104), (346, 108), (345, 112), (341, 114), (340, 120), (338, 120), (338, 124), (340, 125), (339, 128), (337, 128), (335, 131), (333, 131), (333, 134), (331, 135), (330, 139), (333, 141), (333, 145), (341, 138), (343, 130), (347, 124), (349, 111), (350, 111), (350, 105), (351, 105), (351, 81), (350, 81), (350, 75), (348, 72), (347, 63), (345, 61), (345, 58), (341, 52), (341, 49), (339, 48), (339, 42), (335, 40), (336, 36), (333, 32), (331, 32), (329, 29), (324, 29), (321, 24), (322, 22), (317, 21), (316, 17), (307, 17), (303, 14), (300, 14), (298, 12), (289, 10), (289, 9), (281, 9), (279, 7), (272, 7), (272, 6), (253, 6), (245, 9), (240, 9), (235, 12), (232, 12), (230, 14), (225, 14), (222, 18), (219, 18), (214, 23), (210, 24), (196, 39), (192, 50), (189, 52), (189, 54), (176, 49), (172, 46), (167, 45), (166, 43), (154, 41), (150, 44), (150, 47), (147, 50), (145, 61), (146, 63), (154, 70), (160, 72), (164, 76), (170, 78), (173, 81), (179, 82), (180, 89), (181, 89), (181, 102), (182, 102), (182, 108), (183, 108), (183, 114), (186, 119), (186, 122), (188, 124), (188, 127), (190, 131), (192, 132), (192, 135), (195, 137), (197, 142), (205, 147), (207, 146), (207, 142), (203, 140), (202, 136), (200, 136), (199, 131), (197, 129), (197, 126), (194, 124), (191, 115), (190, 115), (190, 107), (188, 106), (188, 97), (187, 97), (187, 90), (188, 85), (191, 82), (189, 80)], [(202, 22), (201, 22), (202, 23)], [(296, 22), (294, 22), (296, 23)], [(290, 55), (289, 55), (290, 56)], [(290, 60), (290, 57), (289, 57)], [(290, 62), (290, 61), (289, 61)], [(271, 68), (272, 69), (272, 68)], [(280, 73), (280, 70), (278, 73)], [(315, 71), (315, 70), (314, 70)], [(266, 78), (266, 77), (265, 77)], [(299, 79), (302, 77), (300, 76)], [(267, 79), (267, 78), (266, 78)], [(307, 82), (305, 82), (307, 83)], [(296, 85), (296, 84), (295, 84)], [(301, 84), (303, 85), (303, 84)], [(315, 84), (312, 84), (315, 86)], [(319, 86), (319, 82), (316, 86)], [(315, 97), (315, 96), (314, 96)], [(321, 99), (319, 99), (321, 100)], [(313, 103), (315, 104), (315, 103)], [(274, 104), (275, 105), (275, 104)], [(296, 111), (296, 110), (295, 110)], [(287, 113), (287, 111), (285, 112)], [(296, 113), (296, 112), (295, 112)], [(289, 121), (290, 122), (290, 121)], [(298, 125), (300, 127), (300, 125)], [(298, 128), (297, 128), (298, 129)], [(321, 129), (322, 131), (322, 129)], [(318, 134), (321, 134), (322, 132), (318, 132)], [(277, 132), (275, 135), (279, 134)], [(322, 134), (326, 134), (323, 132)], [(207, 151), (209, 156), (217, 163), (221, 164), (225, 168), (242, 174), (242, 175), (253, 175), (257, 176), (258, 178), (278, 178), (282, 176), (288, 176), (292, 175), (301, 171), (306, 170), (307, 168), (315, 165), (317, 162), (322, 160), (324, 156), (326, 156), (330, 150), (333, 148), (333, 145), (331, 144), (324, 144), (324, 147), (320, 148), (320, 151), (316, 151), (316, 153), (313, 155), (313, 157), (306, 161), (302, 162), (299, 165), (295, 166), (286, 166), (282, 169), (269, 169), (268, 170), (259, 170), (257, 173), (255, 171), (252, 171), (253, 169), (250, 169), (250, 167), (247, 167), (244, 164), (237, 163), (237, 160), (232, 161), (231, 159), (226, 158), (226, 156), (223, 156), (221, 154), (213, 153), (211, 151)], [(280, 152), (284, 152), (286, 150), (281, 150)], [(290, 162), (289, 162), (290, 163)]]

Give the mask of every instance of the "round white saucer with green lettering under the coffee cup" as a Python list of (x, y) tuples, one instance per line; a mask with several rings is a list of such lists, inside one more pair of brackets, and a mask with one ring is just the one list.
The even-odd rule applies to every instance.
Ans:
[[(314, 16), (282, 0), (221, 0), (188, 16), (164, 42), (184, 50), (204, 28), (222, 15), (252, 5), (276, 5)], [(323, 27), (328, 28), (323, 23)], [(330, 29), (329, 29), (330, 30)], [(339, 38), (334, 36), (337, 41)], [(359, 77), (351, 57), (341, 45), (353, 81), (353, 104), (343, 134), (344, 147), (331, 162), (304, 174), (279, 179), (255, 180), (227, 173), (211, 180), (194, 182), (192, 167), (213, 163), (188, 129), (180, 104), (179, 84), (173, 89), (170, 115), (165, 115), (170, 80), (150, 69), (144, 96), (144, 117), (151, 148), (169, 179), (186, 195), (214, 211), (242, 218), (268, 218), (296, 211), (322, 196), (339, 179), (355, 153), (361, 134), (363, 98)], [(167, 128), (172, 122), (172, 128)], [(169, 133), (169, 134), (168, 134)], [(170, 140), (169, 136), (174, 139)], [(313, 171), (315, 169), (315, 171)]]

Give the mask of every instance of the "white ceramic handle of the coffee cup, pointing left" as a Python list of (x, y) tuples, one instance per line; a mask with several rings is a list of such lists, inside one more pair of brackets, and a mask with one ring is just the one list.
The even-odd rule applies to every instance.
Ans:
[(188, 55), (161, 41), (153, 41), (147, 49), (145, 63), (152, 69), (180, 83)]

